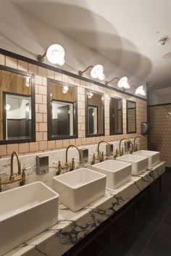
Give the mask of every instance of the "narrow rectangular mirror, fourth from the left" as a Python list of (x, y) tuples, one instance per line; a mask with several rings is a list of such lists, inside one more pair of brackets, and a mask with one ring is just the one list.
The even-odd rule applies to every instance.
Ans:
[(122, 134), (122, 99), (110, 98), (110, 135)]

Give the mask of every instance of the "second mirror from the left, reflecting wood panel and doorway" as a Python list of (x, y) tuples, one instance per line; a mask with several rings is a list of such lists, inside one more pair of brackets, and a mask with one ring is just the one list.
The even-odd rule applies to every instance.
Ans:
[(48, 139), (78, 137), (77, 88), (48, 79)]

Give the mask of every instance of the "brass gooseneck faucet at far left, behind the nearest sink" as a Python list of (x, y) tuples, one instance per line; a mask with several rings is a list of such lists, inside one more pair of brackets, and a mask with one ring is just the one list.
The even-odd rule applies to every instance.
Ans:
[[(18, 175), (20, 175), (20, 177), (14, 176), (14, 165), (13, 165), (14, 155), (17, 157)], [(12, 155), (11, 155), (11, 175), (9, 177), (9, 180), (7, 181), (1, 181), (1, 178), (0, 178), (0, 192), (1, 192), (1, 185), (11, 184), (17, 181), (20, 181), (20, 186), (25, 185), (25, 169), (22, 169), (22, 174), (21, 174), (20, 157), (17, 154), (17, 152), (14, 151), (12, 152)]]

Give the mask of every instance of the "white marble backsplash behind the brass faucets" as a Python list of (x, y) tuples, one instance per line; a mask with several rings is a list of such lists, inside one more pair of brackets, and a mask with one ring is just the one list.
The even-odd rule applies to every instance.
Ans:
[[(114, 150), (119, 148), (119, 142), (120, 141), (112, 141), (111, 143), (114, 146)], [(136, 142), (139, 144), (139, 148), (142, 149), (143, 145), (140, 144), (140, 139), (137, 139)], [(124, 141), (122, 141), (122, 146), (124, 146)], [(72, 161), (72, 157), (75, 157), (75, 168), (79, 167), (88, 167), (88, 165), (91, 164), (93, 160), (93, 153), (97, 155), (97, 144), (93, 145), (86, 145), (86, 146), (79, 146), (79, 148), (87, 148), (88, 149), (88, 163), (80, 165), (79, 164), (79, 155), (78, 151), (75, 148), (70, 148), (68, 151), (68, 162)], [(104, 151), (104, 155), (106, 152), (106, 144), (100, 144), (100, 151)], [(65, 163), (65, 149), (59, 149), (56, 151), (49, 151), (49, 152), (43, 152), (43, 153), (37, 153), (37, 154), (27, 154), (22, 155), (20, 157), (21, 160), (21, 168), (25, 167), (28, 168), (28, 170), (25, 171), (26, 173), (26, 184), (32, 183), (34, 181), (42, 181), (43, 183), (46, 183), (48, 186), (52, 186), (52, 178), (56, 175), (57, 167), (58, 167), (58, 161), (61, 161), (61, 164), (64, 165)], [(49, 173), (38, 175), (36, 174), (36, 155), (38, 156), (49, 156)], [(111, 159), (114, 157), (111, 156)], [(63, 170), (65, 172), (67, 170)], [(14, 175), (17, 175), (17, 160), (16, 157), (14, 157)], [(0, 176), (1, 181), (7, 180), (10, 177), (10, 158), (1, 159), (0, 160)], [(7, 185), (1, 185), (2, 191), (13, 189), (15, 187), (19, 186), (19, 181), (7, 184)]]

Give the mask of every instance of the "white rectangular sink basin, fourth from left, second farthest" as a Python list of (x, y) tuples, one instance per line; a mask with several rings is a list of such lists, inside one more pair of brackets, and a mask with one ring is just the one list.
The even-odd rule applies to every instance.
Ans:
[(149, 158), (138, 154), (125, 154), (117, 157), (117, 160), (132, 164), (132, 174), (138, 176), (148, 167)]

